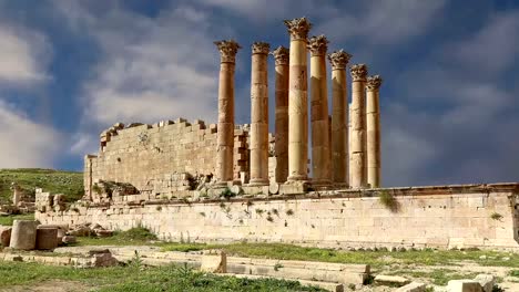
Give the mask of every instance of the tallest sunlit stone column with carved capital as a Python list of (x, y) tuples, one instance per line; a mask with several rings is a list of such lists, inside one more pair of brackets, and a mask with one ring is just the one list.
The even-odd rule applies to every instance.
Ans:
[(308, 180), (308, 92), (306, 18), (285, 20), (291, 34), (288, 81), (288, 180)]

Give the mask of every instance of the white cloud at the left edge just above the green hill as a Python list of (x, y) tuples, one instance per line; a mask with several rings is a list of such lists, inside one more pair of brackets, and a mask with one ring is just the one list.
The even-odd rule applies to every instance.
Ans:
[(0, 101), (0, 168), (52, 167), (62, 137)]

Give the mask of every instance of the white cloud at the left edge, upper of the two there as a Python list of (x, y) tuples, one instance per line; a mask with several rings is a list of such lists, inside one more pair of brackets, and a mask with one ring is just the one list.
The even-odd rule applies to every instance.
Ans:
[(48, 80), (50, 55), (43, 34), (0, 23), (0, 85), (34, 85)]

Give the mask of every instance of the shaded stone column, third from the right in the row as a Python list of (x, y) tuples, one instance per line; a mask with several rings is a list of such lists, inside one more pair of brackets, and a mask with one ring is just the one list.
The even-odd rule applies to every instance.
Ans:
[(328, 54), (332, 64), (332, 164), (336, 184), (348, 185), (349, 165), (349, 106), (346, 83), (346, 66), (352, 58), (343, 50)]

